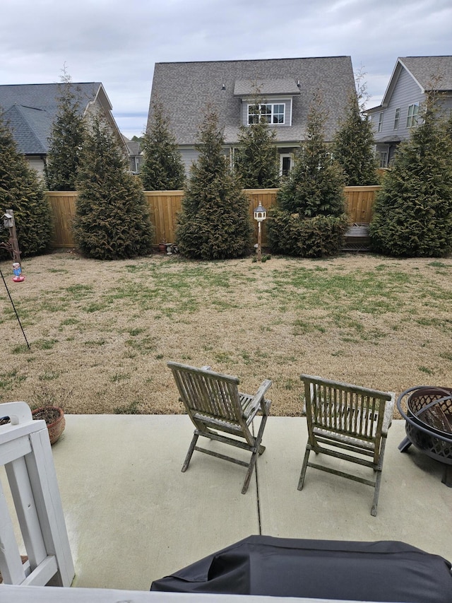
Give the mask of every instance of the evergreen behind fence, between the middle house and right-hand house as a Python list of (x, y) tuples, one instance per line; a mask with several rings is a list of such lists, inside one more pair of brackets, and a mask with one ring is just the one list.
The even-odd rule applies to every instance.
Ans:
[(366, 88), (358, 81), (358, 93), (350, 90), (345, 116), (333, 141), (333, 156), (343, 169), (345, 186), (366, 187), (378, 184), (374, 152), (374, 131), (363, 113)]

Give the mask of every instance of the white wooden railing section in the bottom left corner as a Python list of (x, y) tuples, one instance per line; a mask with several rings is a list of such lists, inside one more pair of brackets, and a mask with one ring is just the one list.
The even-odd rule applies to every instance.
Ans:
[(11, 489), (28, 561), (22, 564), (0, 484), (0, 571), (5, 584), (70, 586), (69, 538), (45, 421), (33, 421), (28, 404), (0, 404), (0, 464)]

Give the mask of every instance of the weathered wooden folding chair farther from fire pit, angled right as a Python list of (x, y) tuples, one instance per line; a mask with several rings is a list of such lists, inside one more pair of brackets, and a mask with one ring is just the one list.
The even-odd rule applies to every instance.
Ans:
[[(257, 455), (261, 455), (265, 450), (265, 446), (261, 445), (261, 439), (270, 411), (271, 402), (265, 398), (265, 394), (271, 381), (268, 379), (263, 381), (256, 394), (251, 396), (239, 392), (237, 377), (214, 373), (208, 366), (195, 368), (177, 362), (169, 362), (168, 366), (176, 381), (180, 400), (184, 403), (186, 411), (196, 427), (189, 452), (187, 452), (182, 466), (182, 472), (188, 469), (194, 450), (205, 452), (207, 455), (248, 467), (242, 488), (242, 494), (246, 493)], [(251, 431), (251, 423), (258, 411), (262, 413), (261, 425), (257, 435), (254, 436)], [(218, 432), (234, 437), (220, 435)], [(241, 459), (199, 447), (196, 442), (200, 435), (210, 438), (210, 440), (249, 450), (251, 459), (249, 462), (244, 462)]]

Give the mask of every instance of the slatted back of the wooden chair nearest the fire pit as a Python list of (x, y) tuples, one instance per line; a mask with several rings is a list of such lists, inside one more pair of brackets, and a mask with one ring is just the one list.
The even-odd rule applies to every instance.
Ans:
[[(384, 409), (391, 394), (365, 387), (301, 375), (307, 406), (310, 439), (315, 431), (347, 435), (380, 447)], [(314, 432), (314, 433), (311, 433)], [(314, 442), (311, 441), (314, 445)]]

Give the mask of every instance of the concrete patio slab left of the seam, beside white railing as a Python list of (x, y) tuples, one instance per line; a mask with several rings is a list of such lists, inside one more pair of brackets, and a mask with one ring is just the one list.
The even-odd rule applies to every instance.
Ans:
[(148, 590), (172, 573), (250, 533), (256, 483), (244, 468), (194, 455), (186, 416), (71, 415), (54, 445), (76, 566), (74, 586)]

